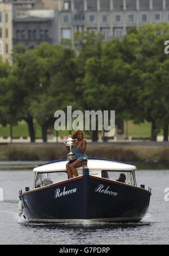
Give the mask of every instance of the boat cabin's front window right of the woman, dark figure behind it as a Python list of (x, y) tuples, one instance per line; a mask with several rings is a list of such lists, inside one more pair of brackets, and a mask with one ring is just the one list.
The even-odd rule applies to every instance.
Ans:
[(123, 173), (126, 176), (126, 184), (135, 185), (135, 179), (132, 172), (114, 171), (114, 170), (103, 170), (101, 177), (108, 178), (112, 181), (119, 180), (120, 174)]

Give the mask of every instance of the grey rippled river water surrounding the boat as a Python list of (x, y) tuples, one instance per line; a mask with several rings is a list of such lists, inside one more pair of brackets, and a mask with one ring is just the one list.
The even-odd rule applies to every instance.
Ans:
[(33, 187), (31, 171), (1, 171), (0, 244), (114, 245), (169, 244), (169, 202), (164, 190), (169, 187), (169, 170), (136, 171), (137, 185), (152, 187), (148, 214), (138, 223), (30, 224), (17, 215), (18, 191)]

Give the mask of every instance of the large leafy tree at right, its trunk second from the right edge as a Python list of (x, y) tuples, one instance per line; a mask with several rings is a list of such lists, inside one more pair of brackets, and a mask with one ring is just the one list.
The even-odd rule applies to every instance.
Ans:
[(164, 111), (159, 97), (165, 89), (168, 90), (166, 84), (162, 84), (162, 74), (159, 75), (159, 69), (167, 59), (163, 45), (169, 36), (168, 29), (168, 24), (146, 24), (124, 38), (126, 45), (130, 40), (137, 42), (135, 58), (131, 62), (131, 86), (127, 90), (131, 95), (131, 117), (136, 123), (144, 120), (152, 123), (152, 140), (157, 140), (159, 130), (168, 126), (163, 126)]

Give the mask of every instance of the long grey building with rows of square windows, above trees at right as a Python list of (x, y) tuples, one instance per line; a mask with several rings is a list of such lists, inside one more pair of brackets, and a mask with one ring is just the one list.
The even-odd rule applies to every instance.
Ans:
[(169, 0), (65, 0), (63, 8), (59, 2), (59, 41), (87, 30), (111, 40), (132, 27), (169, 22)]

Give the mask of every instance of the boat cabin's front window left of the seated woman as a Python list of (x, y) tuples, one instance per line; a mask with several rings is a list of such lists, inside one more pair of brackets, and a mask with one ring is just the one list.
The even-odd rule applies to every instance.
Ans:
[(68, 179), (66, 172), (38, 173), (35, 180), (35, 188), (55, 184)]

